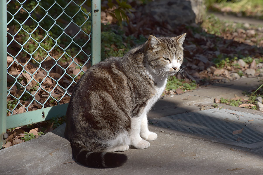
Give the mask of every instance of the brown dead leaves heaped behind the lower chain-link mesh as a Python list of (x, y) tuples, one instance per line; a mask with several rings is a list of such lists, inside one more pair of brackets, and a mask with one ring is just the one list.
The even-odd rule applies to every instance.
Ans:
[[(20, 55), (16, 59), (7, 57), (7, 89), (10, 93), (7, 97), (7, 108), (13, 111), (13, 114), (42, 108), (42, 104), (44, 107), (54, 106), (58, 104), (56, 100), (59, 104), (69, 102), (69, 95), (74, 88), (71, 86), (72, 81), (79, 80), (81, 76), (79, 65), (84, 62), (78, 58), (65, 62), (64, 57), (60, 58), (61, 62), (55, 62), (54, 59), (57, 59), (58, 55), (52, 55), (52, 57), (43, 60), (41, 64), (28, 61), (29, 58)], [(90, 66), (88, 62), (82, 70), (86, 71)], [(72, 77), (75, 76), (73, 80)], [(11, 112), (7, 115), (11, 115)]]

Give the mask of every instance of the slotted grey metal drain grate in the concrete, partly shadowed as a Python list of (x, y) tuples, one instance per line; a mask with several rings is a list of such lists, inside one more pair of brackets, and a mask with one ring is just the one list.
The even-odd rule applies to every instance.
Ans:
[[(238, 120), (239, 118), (239, 120)], [(171, 115), (149, 120), (150, 124), (174, 130), (202, 134), (225, 140), (252, 144), (263, 141), (263, 116), (229, 109), (208, 109), (204, 111)], [(240, 134), (233, 131), (242, 129)]]

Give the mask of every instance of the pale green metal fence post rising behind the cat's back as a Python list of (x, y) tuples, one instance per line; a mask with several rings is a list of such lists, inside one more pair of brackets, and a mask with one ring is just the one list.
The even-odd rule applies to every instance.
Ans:
[(101, 61), (101, 1), (91, 1), (91, 58), (92, 65)]

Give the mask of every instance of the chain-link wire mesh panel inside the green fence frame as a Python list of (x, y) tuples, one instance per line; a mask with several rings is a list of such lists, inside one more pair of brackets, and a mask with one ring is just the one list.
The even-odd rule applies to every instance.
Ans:
[(7, 115), (65, 104), (91, 66), (90, 1), (7, 1)]

